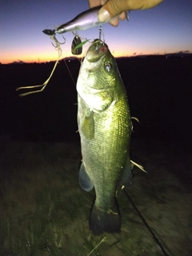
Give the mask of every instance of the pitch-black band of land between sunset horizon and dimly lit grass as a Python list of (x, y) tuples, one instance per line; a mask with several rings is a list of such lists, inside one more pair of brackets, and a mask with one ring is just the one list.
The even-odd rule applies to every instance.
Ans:
[[(134, 135), (181, 143), (190, 137), (191, 55), (118, 58), (134, 123)], [(66, 60), (74, 82), (80, 61)], [(54, 62), (0, 66), (0, 134), (14, 138), (78, 140), (77, 93), (66, 64), (61, 61), (42, 93), (20, 98), (19, 86), (43, 83)], [(179, 138), (179, 140), (178, 140)]]

